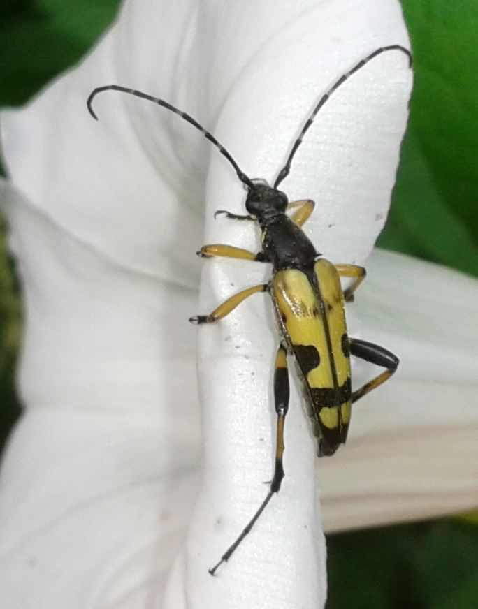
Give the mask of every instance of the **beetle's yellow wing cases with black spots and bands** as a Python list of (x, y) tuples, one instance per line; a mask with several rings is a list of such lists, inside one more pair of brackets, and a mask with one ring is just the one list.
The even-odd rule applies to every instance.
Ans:
[(337, 270), (324, 258), (312, 281), (298, 269), (275, 274), (271, 295), (277, 320), (305, 381), (308, 413), (321, 454), (347, 439), (352, 390), (344, 297)]

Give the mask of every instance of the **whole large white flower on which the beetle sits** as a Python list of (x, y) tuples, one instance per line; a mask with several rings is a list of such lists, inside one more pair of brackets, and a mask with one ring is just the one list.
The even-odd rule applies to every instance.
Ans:
[[(113, 82), (161, 96), (215, 133), (248, 175), (271, 179), (319, 95), (391, 44), (408, 46), (392, 0), (136, 0), (81, 66), (4, 113), (15, 186), (3, 185), (4, 207), (27, 316), (27, 413), (0, 480), (9, 608), (324, 605), (317, 460), (295, 385), (282, 490), (217, 578), (207, 573), (263, 499), (272, 467), (270, 303), (257, 295), (198, 330), (199, 388), (187, 324), (267, 276), (266, 265), (194, 256), (203, 242), (259, 248), (252, 226), (212, 221), (219, 208), (244, 212), (241, 185), (177, 116), (108, 92), (95, 100), (96, 123), (85, 101)], [(317, 201), (307, 234), (335, 262), (365, 261), (383, 226), (410, 83), (400, 52), (371, 61), (321, 110), (284, 180), (291, 200)], [(392, 254), (374, 254), (369, 269), (352, 333), (403, 362), (357, 406), (347, 447), (317, 465), (329, 529), (454, 509), (452, 484), (465, 508), (477, 487), (463, 467), (476, 453), (477, 333), (471, 321), (452, 328), (477, 286)], [(453, 282), (460, 291), (450, 295)]]

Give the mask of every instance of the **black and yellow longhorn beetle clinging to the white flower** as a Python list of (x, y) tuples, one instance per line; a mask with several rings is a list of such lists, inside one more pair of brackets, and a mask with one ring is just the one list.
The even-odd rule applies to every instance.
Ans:
[[(294, 355), (303, 377), (308, 402), (307, 410), (312, 421), (312, 432), (317, 438), (319, 457), (333, 455), (338, 446), (345, 443), (352, 404), (372, 389), (382, 385), (397, 369), (396, 355), (386, 351), (383, 347), (350, 338), (347, 335), (345, 301), (353, 300), (356, 288), (365, 278), (365, 269), (351, 264), (333, 264), (322, 258), (301, 228), (314, 210), (314, 201), (305, 199), (289, 203), (286, 194), (277, 189), (280, 182), (289, 174), (292, 159), (294, 159), (294, 154), (307, 129), (310, 128), (317, 112), (333, 94), (333, 91), (365, 66), (370, 59), (391, 50), (405, 53), (412, 66), (412, 54), (409, 50), (400, 45), (390, 45), (378, 48), (359, 61), (352, 70), (342, 75), (320, 98), (312, 114), (307, 118), (273, 186), (269, 186), (265, 179), (249, 178), (240, 170), (231, 154), (214, 135), (203, 129), (194, 118), (162, 99), (119, 85), (98, 87), (88, 98), (87, 107), (94, 119), (97, 119), (92, 110), (94, 96), (101, 91), (122, 91), (175, 112), (201, 131), (205, 138), (210, 140), (231, 163), (238, 178), (247, 189), (245, 200), (247, 215), (242, 216), (219, 210), (215, 213), (215, 217), (218, 214), (224, 214), (227, 218), (234, 220), (258, 223), (261, 230), (262, 250), (259, 254), (254, 254), (252, 251), (231, 245), (212, 244), (201, 247), (198, 256), (239, 258), (273, 265), (273, 274), (268, 284), (242, 290), (220, 304), (209, 315), (198, 315), (189, 319), (192, 323), (198, 324), (218, 321), (231, 313), (252, 294), (268, 292), (273, 300), (280, 331), (280, 346), (275, 359), (274, 376), (277, 437), (273, 480), (266, 499), (263, 500), (245, 529), (226, 550), (219, 562), (210, 568), (211, 575), (215, 574), (223, 562), (229, 560), (266, 508), (273, 494), (280, 490), (284, 478), (284, 468), (282, 467), (284, 421), (289, 407), (287, 354)], [(286, 214), (289, 210), (294, 210), (290, 217)], [(352, 284), (345, 291), (342, 291), (340, 286), (340, 277), (353, 279)], [(350, 355), (384, 367), (385, 370), (372, 381), (365, 383), (363, 387), (352, 391)]]

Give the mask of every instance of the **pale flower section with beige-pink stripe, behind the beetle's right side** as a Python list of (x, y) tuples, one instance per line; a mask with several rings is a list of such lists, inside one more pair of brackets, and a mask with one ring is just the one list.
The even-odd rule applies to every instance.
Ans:
[[(478, 281), (385, 251), (368, 270), (351, 307), (361, 338), (401, 362), (354, 407), (347, 446), (318, 465), (328, 531), (478, 506)], [(354, 383), (370, 368), (357, 365)]]

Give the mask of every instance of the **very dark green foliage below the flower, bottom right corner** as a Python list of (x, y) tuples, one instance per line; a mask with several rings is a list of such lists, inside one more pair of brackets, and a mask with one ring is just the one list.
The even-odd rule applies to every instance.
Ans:
[(328, 538), (326, 609), (475, 609), (478, 527), (441, 520)]

